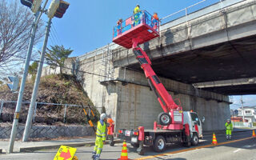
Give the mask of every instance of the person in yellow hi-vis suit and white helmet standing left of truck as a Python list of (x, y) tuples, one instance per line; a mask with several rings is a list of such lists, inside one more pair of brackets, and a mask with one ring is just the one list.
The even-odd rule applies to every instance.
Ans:
[(97, 124), (96, 140), (92, 158), (98, 160), (103, 148), (103, 143), (106, 141), (106, 114), (101, 114), (100, 120)]

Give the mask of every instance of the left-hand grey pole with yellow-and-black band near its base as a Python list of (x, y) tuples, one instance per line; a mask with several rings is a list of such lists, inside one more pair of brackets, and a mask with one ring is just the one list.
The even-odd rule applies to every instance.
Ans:
[[(47, 2), (48, 2), (48, 0), (46, 0), (43, 9), (45, 8)], [(38, 22), (39, 22), (41, 16), (42, 16), (42, 12), (40, 12), (40, 10), (37, 10), (35, 17), (34, 17), (34, 23), (33, 23), (32, 30), (31, 30), (30, 43), (28, 46), (27, 54), (26, 54), (26, 63), (25, 63), (25, 68), (24, 68), (24, 72), (22, 75), (22, 83), (21, 83), (21, 86), (20, 86), (20, 89), (18, 92), (18, 100), (17, 100), (16, 109), (14, 112), (14, 122), (13, 122), (13, 126), (12, 126), (11, 133), (10, 133), (9, 148), (7, 150), (8, 153), (12, 153), (14, 150), (14, 140), (15, 140), (16, 134), (17, 134), (18, 118), (19, 118), (19, 112), (20, 112), (21, 106), (22, 106), (23, 92), (24, 92), (24, 88), (26, 85), (26, 76), (27, 76), (28, 69), (30, 66), (30, 58), (31, 58), (31, 53), (32, 53), (32, 49), (34, 46), (35, 32), (38, 28)]]

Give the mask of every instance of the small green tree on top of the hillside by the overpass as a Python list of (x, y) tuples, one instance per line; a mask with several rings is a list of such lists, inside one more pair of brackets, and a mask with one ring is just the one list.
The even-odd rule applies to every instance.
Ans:
[(73, 50), (65, 49), (64, 46), (50, 46), (51, 49), (47, 48), (46, 62), (51, 66), (58, 66), (62, 74), (64, 62), (66, 58), (73, 52)]

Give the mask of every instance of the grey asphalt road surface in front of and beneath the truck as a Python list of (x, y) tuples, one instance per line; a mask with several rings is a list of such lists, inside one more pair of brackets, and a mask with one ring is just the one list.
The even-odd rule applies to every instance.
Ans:
[[(256, 160), (256, 138), (251, 137), (250, 132), (236, 133), (231, 141), (226, 141), (225, 135), (217, 135), (218, 146), (211, 146), (212, 136), (207, 136), (202, 140), (199, 146), (184, 148), (180, 145), (169, 146), (162, 154), (155, 153), (150, 147), (146, 147), (146, 154), (139, 156), (136, 150), (127, 144), (128, 157), (130, 159), (177, 159), (177, 160), (208, 160), (208, 159), (238, 159), (238, 160)], [(91, 156), (93, 146), (78, 147), (76, 156), (79, 160), (88, 160)], [(114, 160), (120, 158), (122, 144), (114, 147), (104, 146), (102, 151), (102, 160)], [(38, 150), (33, 153), (20, 154), (0, 154), (1, 160), (19, 159), (19, 160), (46, 160), (53, 159), (57, 150)]]

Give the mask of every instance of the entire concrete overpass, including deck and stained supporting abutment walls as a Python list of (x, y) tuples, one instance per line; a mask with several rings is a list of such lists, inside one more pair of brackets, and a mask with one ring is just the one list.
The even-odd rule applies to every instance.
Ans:
[[(225, 0), (162, 25), (161, 38), (142, 45), (166, 90), (180, 100), (177, 103), (183, 110), (206, 117), (203, 130), (224, 130), (230, 118), (227, 94), (246, 93), (249, 89), (241, 85), (254, 85), (252, 80), (234, 83), (239, 91), (229, 81), (256, 77), (255, 11), (255, 0)], [(162, 108), (132, 50), (110, 44), (66, 66), (72, 70), (64, 72), (77, 76), (94, 106), (114, 118), (116, 129), (153, 128)], [(43, 71), (56, 73), (50, 67)]]

